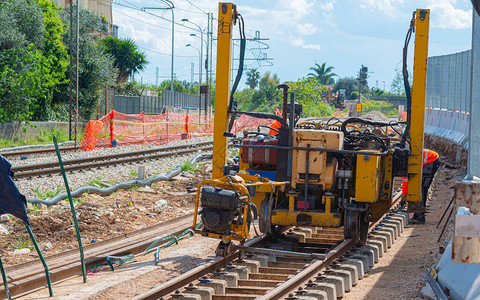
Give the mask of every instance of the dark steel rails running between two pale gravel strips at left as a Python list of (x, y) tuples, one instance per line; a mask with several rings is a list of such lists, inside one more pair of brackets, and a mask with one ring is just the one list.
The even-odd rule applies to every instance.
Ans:
[[(109, 155), (102, 155), (96, 157), (77, 158), (71, 160), (64, 160), (63, 165), (65, 171), (78, 171), (90, 168), (99, 168), (111, 166), (113, 164), (126, 164), (135, 161), (142, 161), (148, 159), (158, 159), (169, 155), (183, 155), (196, 151), (211, 150), (213, 148), (212, 142), (200, 142), (187, 145), (157, 147), (147, 150), (138, 150), (131, 152), (115, 153)], [(55, 175), (60, 174), (60, 166), (58, 161), (30, 164), (12, 167), (15, 172), (15, 178), (28, 178), (41, 175)]]

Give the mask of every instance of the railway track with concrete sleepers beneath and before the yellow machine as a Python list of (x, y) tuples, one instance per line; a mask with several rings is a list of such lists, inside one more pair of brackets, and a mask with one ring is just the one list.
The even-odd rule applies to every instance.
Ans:
[[(392, 207), (399, 200), (398, 194)], [(371, 224), (363, 246), (344, 240), (342, 229), (331, 228), (291, 228), (276, 241), (257, 237), (226, 257), (217, 257), (133, 299), (337, 299), (378, 262), (407, 219), (403, 212), (390, 211)]]

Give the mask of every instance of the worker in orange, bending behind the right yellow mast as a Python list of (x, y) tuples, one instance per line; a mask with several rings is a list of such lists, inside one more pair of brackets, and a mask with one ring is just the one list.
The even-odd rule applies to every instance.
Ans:
[[(428, 189), (432, 184), (433, 177), (440, 166), (440, 158), (437, 152), (429, 149), (423, 149), (423, 170), (422, 170), (422, 201), (420, 205), (425, 207), (427, 204)], [(408, 192), (408, 177), (402, 178), (402, 201)], [(425, 213), (415, 213), (410, 219), (413, 224), (425, 224)]]

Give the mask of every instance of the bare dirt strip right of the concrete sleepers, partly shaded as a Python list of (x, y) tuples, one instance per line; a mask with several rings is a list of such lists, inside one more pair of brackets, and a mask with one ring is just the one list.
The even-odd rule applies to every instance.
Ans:
[[(442, 160), (447, 159), (442, 157)], [(453, 197), (455, 182), (465, 176), (465, 170), (440, 167), (430, 189), (426, 223), (406, 228), (368, 277), (359, 281), (343, 299), (422, 299), (425, 269), (438, 262), (440, 247), (445, 247), (450, 236), (446, 231), (437, 243), (445, 218), (439, 228), (437, 223)]]

